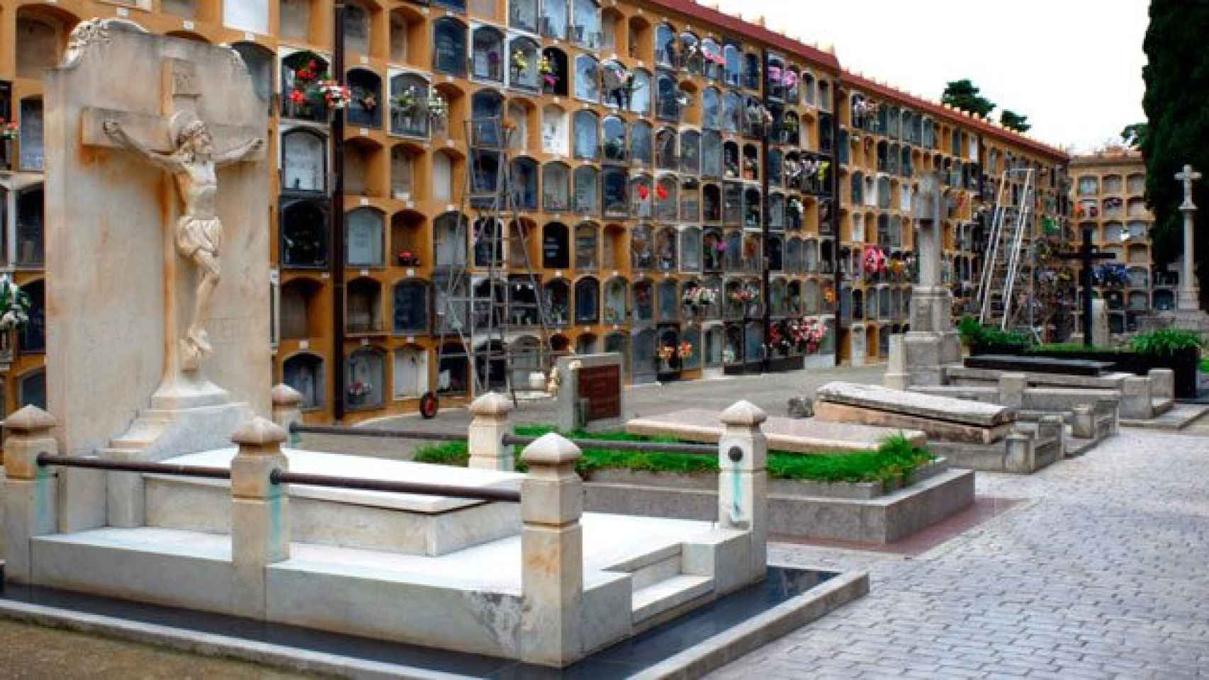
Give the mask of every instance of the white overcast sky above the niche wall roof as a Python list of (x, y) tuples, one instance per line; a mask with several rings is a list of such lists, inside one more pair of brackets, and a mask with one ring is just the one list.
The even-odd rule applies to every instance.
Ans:
[(832, 43), (849, 70), (939, 99), (968, 77), (1029, 116), (1030, 134), (1087, 151), (1145, 120), (1146, 0), (704, 0)]

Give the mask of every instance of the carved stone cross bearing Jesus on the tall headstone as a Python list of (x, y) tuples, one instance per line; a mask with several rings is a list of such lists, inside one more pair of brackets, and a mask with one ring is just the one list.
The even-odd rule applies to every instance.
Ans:
[[(166, 220), (163, 226), (164, 273), (169, 281), (164, 302), (164, 383), (174, 382), (181, 372), (197, 371), (213, 351), (203, 321), (221, 271), (222, 225), (215, 213), (218, 179), (214, 170), (231, 163), (256, 161), (264, 155), (264, 140), (254, 128), (213, 124), (201, 118), (196, 68), (197, 64), (186, 59), (163, 59), (160, 116), (86, 109), (82, 120), (85, 145), (126, 149), (170, 172), (184, 204), (183, 213), (175, 220)], [(175, 286), (178, 254), (193, 265), (198, 279), (193, 313), (185, 331), (178, 327), (181, 306)]]

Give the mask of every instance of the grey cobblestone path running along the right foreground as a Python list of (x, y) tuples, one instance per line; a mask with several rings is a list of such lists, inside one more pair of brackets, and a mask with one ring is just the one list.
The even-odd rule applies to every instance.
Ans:
[(977, 480), (1028, 500), (915, 558), (770, 546), (872, 591), (710, 678), (1209, 678), (1209, 438), (1123, 430)]

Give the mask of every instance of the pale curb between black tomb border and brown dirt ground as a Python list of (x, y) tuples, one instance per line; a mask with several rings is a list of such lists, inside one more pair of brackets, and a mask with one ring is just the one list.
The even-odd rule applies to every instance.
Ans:
[(208, 657), (233, 658), (259, 663), (287, 670), (322, 673), (336, 678), (357, 678), (366, 680), (405, 679), (405, 680), (467, 680), (465, 675), (455, 675), (433, 670), (421, 670), (354, 657), (326, 652), (300, 650), (271, 643), (259, 643), (239, 638), (229, 638), (212, 633), (199, 633), (157, 623), (126, 621), (110, 616), (100, 616), (37, 604), (0, 599), (0, 618), (35, 623), (50, 628), (63, 628), (77, 633), (91, 633), (105, 638), (167, 647), (175, 651), (196, 653)]

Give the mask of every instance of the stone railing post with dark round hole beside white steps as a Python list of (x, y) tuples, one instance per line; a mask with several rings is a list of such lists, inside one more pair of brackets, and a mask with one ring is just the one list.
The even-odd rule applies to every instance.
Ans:
[(748, 581), (768, 569), (768, 414), (750, 401), (722, 412), (718, 441), (718, 527), (751, 533)]

